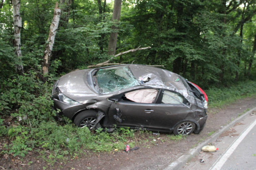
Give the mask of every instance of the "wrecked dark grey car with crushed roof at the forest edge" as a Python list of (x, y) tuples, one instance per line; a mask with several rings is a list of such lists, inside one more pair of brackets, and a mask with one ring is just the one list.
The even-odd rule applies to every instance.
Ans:
[(207, 96), (180, 75), (127, 64), (78, 70), (53, 85), (59, 114), (78, 127), (130, 127), (189, 135), (207, 119)]

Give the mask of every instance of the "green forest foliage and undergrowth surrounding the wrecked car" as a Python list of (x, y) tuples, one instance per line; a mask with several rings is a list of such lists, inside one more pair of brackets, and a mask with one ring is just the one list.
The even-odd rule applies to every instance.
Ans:
[[(117, 20), (114, 1), (58, 4), (61, 14), (49, 72), (43, 74), (56, 0), (0, 0), (0, 136), (5, 137), (0, 138), (0, 155), (25, 156), (38, 148), (42, 155), (50, 151), (49, 159), (59, 159), (80, 147), (122, 148), (125, 141), (119, 132), (91, 135), (86, 128), (57, 123), (50, 95), (61, 75), (138, 47), (151, 48), (120, 55), (110, 63), (163, 65), (209, 88), (209, 103), (215, 101), (216, 106), (222, 99), (255, 93), (255, 81), (247, 81), (256, 78), (255, 0), (123, 0)], [(116, 34), (113, 43), (110, 39)], [(112, 53), (110, 42), (116, 45)]]

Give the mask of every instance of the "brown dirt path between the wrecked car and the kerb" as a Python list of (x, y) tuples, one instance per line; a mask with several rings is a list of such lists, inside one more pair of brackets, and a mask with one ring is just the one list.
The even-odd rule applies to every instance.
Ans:
[[(0, 157), (0, 169), (3, 170), (156, 170), (163, 169), (172, 161), (189, 151), (191, 148), (203, 142), (211, 136), (208, 134), (217, 132), (223, 126), (237, 118), (245, 110), (251, 109), (256, 105), (256, 97), (245, 98), (234, 102), (222, 109), (209, 109), (206, 126), (200, 134), (189, 135), (181, 141), (168, 140), (168, 134), (160, 133), (160, 138), (166, 139), (165, 142), (157, 142), (154, 146), (139, 146), (138, 150), (111, 153), (88, 153), (83, 157), (71, 156), (65, 162), (55, 162), (49, 164), (40, 158), (37, 153), (31, 152), (21, 158)], [(224, 132), (226, 135), (238, 135), (232, 129)], [(159, 137), (159, 136), (158, 136)], [(156, 137), (156, 138), (158, 138)], [(157, 140), (157, 139), (156, 139)], [(210, 156), (210, 155), (209, 155)], [(198, 161), (198, 160), (196, 160)], [(32, 162), (32, 163), (31, 163)], [(30, 165), (28, 165), (30, 164)]]

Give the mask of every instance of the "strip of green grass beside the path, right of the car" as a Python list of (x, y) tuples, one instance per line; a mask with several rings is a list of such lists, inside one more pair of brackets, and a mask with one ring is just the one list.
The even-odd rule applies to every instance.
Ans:
[(209, 107), (222, 107), (240, 98), (256, 95), (256, 82), (238, 82), (230, 87), (210, 88), (205, 91)]

